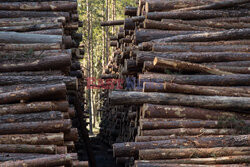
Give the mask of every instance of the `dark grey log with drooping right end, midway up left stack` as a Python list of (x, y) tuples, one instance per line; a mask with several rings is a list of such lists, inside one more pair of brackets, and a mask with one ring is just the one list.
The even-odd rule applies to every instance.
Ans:
[(76, 90), (78, 83), (76, 78), (67, 76), (0, 76), (1, 86), (16, 84), (44, 84), (65, 83), (68, 89)]

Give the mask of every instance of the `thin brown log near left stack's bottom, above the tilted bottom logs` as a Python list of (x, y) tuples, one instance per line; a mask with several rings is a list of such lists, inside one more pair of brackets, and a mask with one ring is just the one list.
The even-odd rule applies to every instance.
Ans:
[(0, 144), (1, 153), (57, 154), (55, 145)]

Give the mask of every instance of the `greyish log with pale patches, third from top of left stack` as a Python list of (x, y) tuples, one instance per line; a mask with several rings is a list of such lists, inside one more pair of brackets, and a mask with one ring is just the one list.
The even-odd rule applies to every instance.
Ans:
[(65, 17), (21, 17), (21, 18), (5, 18), (0, 19), (0, 27), (11, 27), (11, 26), (24, 26), (34, 25), (42, 23), (63, 23), (65, 24)]

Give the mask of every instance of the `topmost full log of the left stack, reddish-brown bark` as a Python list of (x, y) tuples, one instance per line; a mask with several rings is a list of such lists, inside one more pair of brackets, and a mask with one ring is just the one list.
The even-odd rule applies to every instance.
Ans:
[(77, 10), (77, 2), (1, 2), (0, 10), (19, 11), (72, 11)]

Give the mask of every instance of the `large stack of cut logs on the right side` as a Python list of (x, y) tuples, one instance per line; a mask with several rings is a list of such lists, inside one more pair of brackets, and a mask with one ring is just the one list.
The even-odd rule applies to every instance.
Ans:
[(102, 75), (123, 81), (102, 95), (117, 163), (249, 165), (249, 2), (139, 0), (123, 22), (102, 23), (123, 25)]

